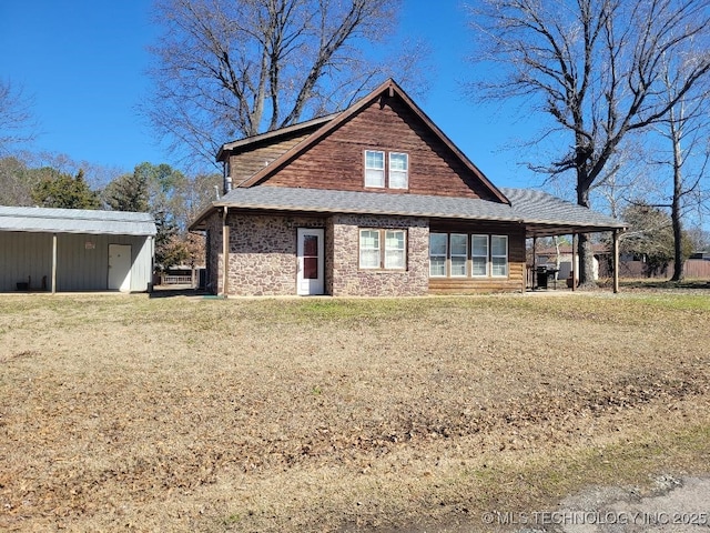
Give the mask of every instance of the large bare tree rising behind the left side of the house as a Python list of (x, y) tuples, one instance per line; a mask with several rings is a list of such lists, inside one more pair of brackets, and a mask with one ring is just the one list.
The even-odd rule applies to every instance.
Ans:
[[(159, 0), (154, 95), (142, 111), (187, 161), (344, 108), (393, 73), (365, 53), (400, 0)], [(398, 43), (402, 53), (413, 53)], [(398, 73), (416, 66), (399, 57)]]

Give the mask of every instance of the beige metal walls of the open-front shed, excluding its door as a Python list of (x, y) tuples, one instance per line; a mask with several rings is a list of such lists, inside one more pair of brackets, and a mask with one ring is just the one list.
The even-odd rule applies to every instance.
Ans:
[[(131, 245), (131, 291), (142, 292), (152, 281), (153, 242), (149, 237), (61, 233), (57, 239), (57, 290), (105, 291), (109, 284), (109, 244)], [(17, 291), (18, 282), (47, 290), (52, 283), (50, 233), (0, 232), (0, 291)]]

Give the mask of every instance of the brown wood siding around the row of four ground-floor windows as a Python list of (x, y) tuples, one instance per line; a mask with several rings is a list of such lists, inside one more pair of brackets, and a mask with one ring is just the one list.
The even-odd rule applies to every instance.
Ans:
[(508, 275), (506, 278), (429, 278), (430, 294), (525, 291), (525, 227), (521, 224), (433, 220), (429, 223), (429, 231), (432, 233), (508, 235)]

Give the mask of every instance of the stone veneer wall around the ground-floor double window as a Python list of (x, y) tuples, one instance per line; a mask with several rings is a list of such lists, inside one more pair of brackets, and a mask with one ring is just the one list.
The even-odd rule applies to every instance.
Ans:
[[(361, 270), (359, 229), (404, 228), (407, 230), (407, 269)], [(334, 296), (400, 296), (427, 294), (429, 283), (429, 224), (427, 219), (400, 217), (333, 215), (328, 221), (332, 264), (327, 276)], [(328, 269), (326, 269), (326, 272)]]

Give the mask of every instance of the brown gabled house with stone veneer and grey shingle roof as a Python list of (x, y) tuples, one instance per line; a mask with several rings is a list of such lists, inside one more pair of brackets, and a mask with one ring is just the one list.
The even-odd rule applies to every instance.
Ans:
[(223, 295), (524, 291), (526, 238), (612, 231), (550, 194), (496, 187), (395, 83), (348, 109), (224, 144), (206, 233)]

